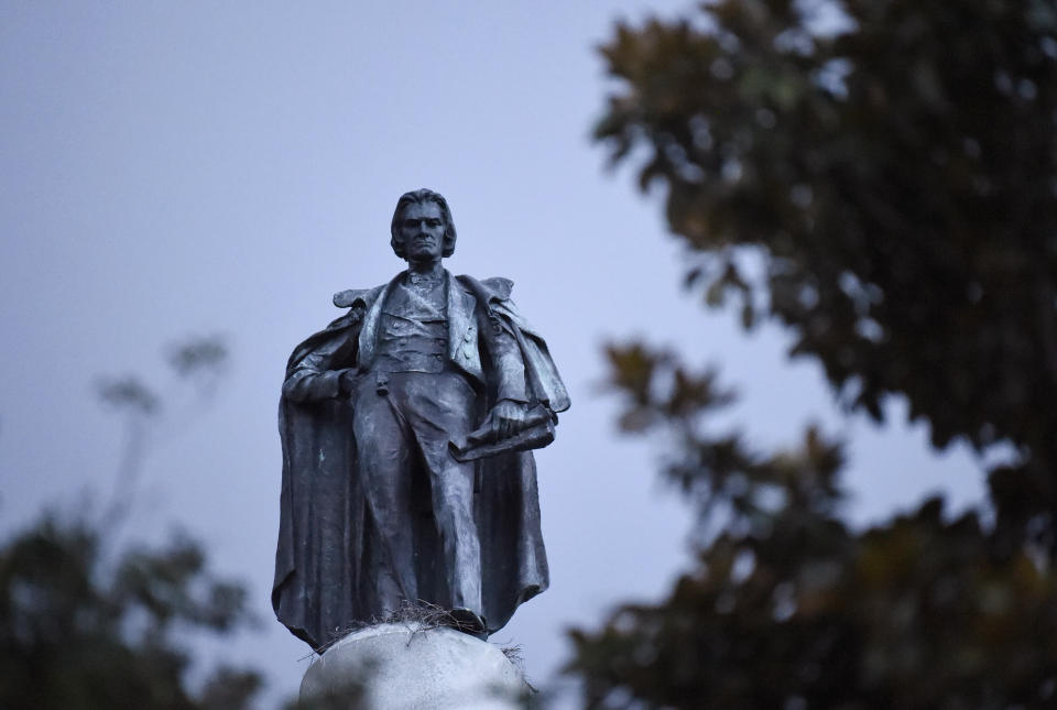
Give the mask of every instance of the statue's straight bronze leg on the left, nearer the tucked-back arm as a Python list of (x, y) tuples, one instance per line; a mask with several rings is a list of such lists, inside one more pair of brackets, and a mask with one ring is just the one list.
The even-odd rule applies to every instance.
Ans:
[(381, 395), (373, 382), (366, 382), (357, 393), (353, 416), (364, 496), (386, 562), (373, 570), (375, 593), (385, 611), (394, 611), (404, 600), (418, 600), (411, 524), (415, 444), (393, 400), (399, 394)]

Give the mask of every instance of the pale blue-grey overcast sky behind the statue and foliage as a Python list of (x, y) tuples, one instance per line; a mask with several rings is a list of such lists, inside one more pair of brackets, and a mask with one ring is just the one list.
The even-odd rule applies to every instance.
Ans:
[(600, 346), (647, 336), (721, 365), (761, 446), (809, 420), (851, 443), (849, 514), (884, 517), (946, 490), (981, 495), (965, 450), (935, 457), (898, 402), (842, 419), (776, 326), (747, 337), (679, 288), (658, 196), (604, 170), (589, 140), (614, 20), (685, 2), (0, 3), (0, 534), (43, 506), (105, 499), (121, 419), (92, 383), (220, 334), (230, 368), (190, 420), (160, 419), (130, 529), (182, 526), (244, 580), (262, 630), (230, 646), (295, 691), (307, 647), (273, 620), (275, 408), (290, 351), (339, 315), (330, 295), (388, 281), (396, 198), (443, 193), (448, 267), (515, 282), (573, 397), (537, 455), (552, 588), (493, 637), (546, 685), (563, 629), (656, 598), (685, 562), (688, 514), (657, 449), (620, 437)]

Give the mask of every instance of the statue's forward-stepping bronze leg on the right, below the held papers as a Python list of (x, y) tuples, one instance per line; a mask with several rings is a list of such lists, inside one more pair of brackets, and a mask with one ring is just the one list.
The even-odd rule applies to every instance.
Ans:
[[(433, 514), (444, 548), (453, 609), (481, 616), (481, 544), (473, 518), (473, 463), (451, 458), (448, 441), (473, 428), (477, 395), (454, 372), (424, 374), (408, 389), (408, 420), (429, 473)], [(428, 389), (425, 386), (428, 383)]]

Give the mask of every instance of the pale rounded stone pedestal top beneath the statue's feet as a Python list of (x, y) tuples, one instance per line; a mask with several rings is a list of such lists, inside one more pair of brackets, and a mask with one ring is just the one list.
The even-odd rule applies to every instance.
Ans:
[(379, 624), (308, 667), (306, 710), (515, 710), (528, 686), (498, 646), (447, 627)]

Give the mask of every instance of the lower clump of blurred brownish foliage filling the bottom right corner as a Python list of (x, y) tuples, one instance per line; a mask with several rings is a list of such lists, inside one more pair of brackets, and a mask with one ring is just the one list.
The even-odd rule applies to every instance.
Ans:
[(669, 352), (611, 347), (625, 430), (665, 437), (695, 503), (694, 567), (658, 604), (573, 632), (589, 708), (1045, 708), (1057, 576), (939, 499), (865, 531), (841, 518), (841, 445), (808, 427), (763, 455), (715, 432), (730, 401)]

